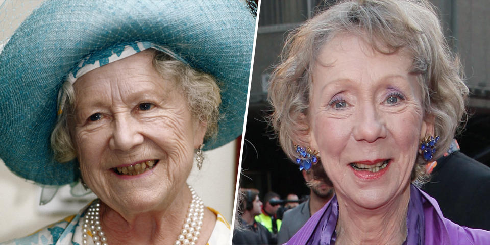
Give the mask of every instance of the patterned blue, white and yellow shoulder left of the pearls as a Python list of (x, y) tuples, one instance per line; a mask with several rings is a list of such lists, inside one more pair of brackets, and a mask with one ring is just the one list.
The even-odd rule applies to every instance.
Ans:
[[(48, 244), (59, 244), (60, 240), (69, 239), (71, 241), (71, 236), (69, 234), (75, 233), (76, 226), (74, 222), (77, 223), (78, 215), (71, 215), (56, 223), (48, 225), (36, 232), (22, 238), (17, 238), (2, 245), (10, 244), (38, 244), (38, 245), (48, 245)], [(69, 236), (69, 237), (68, 237)], [(65, 244), (65, 243), (61, 243)], [(71, 244), (71, 243), (66, 243)]]

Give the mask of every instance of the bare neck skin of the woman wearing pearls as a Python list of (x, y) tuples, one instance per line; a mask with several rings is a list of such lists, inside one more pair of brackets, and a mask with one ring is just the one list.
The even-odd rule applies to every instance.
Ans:
[[(174, 244), (179, 236), (192, 195), (187, 184), (169, 203), (148, 212), (116, 211), (101, 203), (101, 226), (108, 244)], [(207, 208), (197, 244), (206, 244), (216, 217)], [(209, 231), (209, 229), (211, 229)]]

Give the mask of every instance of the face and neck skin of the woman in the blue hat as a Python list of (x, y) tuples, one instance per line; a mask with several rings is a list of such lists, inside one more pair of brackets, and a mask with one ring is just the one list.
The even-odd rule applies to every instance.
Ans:
[[(174, 244), (192, 200), (186, 179), (206, 124), (192, 117), (180, 89), (140, 52), (94, 69), (74, 84), (70, 133), (85, 183), (101, 199), (109, 244)], [(114, 167), (158, 160), (135, 176)], [(127, 178), (129, 177), (129, 178)], [(204, 209), (197, 244), (216, 216)]]

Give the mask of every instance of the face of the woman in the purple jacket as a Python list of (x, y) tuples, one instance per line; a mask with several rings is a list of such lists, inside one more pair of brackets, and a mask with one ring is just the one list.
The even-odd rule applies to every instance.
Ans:
[(376, 208), (408, 193), (423, 120), (421, 87), (401, 51), (338, 35), (313, 69), (309, 141), (339, 200)]

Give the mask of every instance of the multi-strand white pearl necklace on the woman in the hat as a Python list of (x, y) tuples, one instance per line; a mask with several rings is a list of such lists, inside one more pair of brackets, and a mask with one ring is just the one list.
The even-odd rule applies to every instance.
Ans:
[[(192, 202), (189, 205), (185, 223), (182, 230), (177, 236), (175, 245), (195, 245), (201, 234), (201, 226), (204, 218), (204, 203), (201, 198), (195, 193), (194, 188), (189, 185), (192, 194)], [(90, 234), (95, 245), (108, 245), (105, 233), (102, 231), (100, 222), (100, 200), (95, 200), (87, 210), (82, 221), (82, 244), (89, 244)]]

